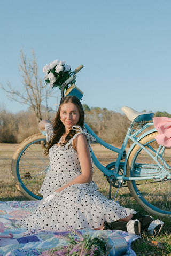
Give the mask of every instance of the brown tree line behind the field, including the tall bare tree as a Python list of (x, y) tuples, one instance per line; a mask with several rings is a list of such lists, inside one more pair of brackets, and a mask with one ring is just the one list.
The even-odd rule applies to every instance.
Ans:
[[(48, 106), (50, 89), (38, 74), (38, 64), (34, 50), (32, 57), (20, 51), (19, 73), (22, 77), (22, 90), (14, 89), (11, 84), (1, 85), (11, 100), (26, 104), (28, 111), (12, 114), (0, 106), (0, 143), (20, 143), (28, 136), (38, 133), (38, 122), (55, 118), (55, 112)], [(126, 115), (100, 107), (83, 104), (86, 122), (104, 141), (120, 146), (126, 135), (130, 121)], [(144, 110), (146, 112), (146, 110)], [(157, 112), (156, 117), (171, 117), (167, 112)]]

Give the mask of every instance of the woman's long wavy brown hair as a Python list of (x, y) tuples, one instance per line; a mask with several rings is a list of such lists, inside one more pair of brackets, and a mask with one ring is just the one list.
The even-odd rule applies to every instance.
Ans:
[[(84, 126), (84, 110), (82, 107), (82, 104), (80, 102), (80, 100), (75, 97), (75, 96), (66, 96), (64, 98), (62, 98), (60, 100), (60, 105), (58, 108), (58, 112), (56, 114), (55, 119), (53, 120), (52, 124), (53, 124), (53, 137), (52, 139), (49, 141), (49, 144), (45, 150), (45, 154), (48, 154), (49, 149), (54, 145), (57, 144), (59, 142), (59, 139), (61, 138), (61, 136), (65, 133), (65, 126), (63, 125), (63, 123), (60, 120), (60, 110), (61, 110), (61, 106), (65, 103), (73, 103), (77, 106), (78, 110), (79, 110), (79, 121), (77, 122), (76, 125), (81, 126), (81, 128), (83, 129)], [(75, 130), (70, 130), (68, 135), (65, 138), (65, 142), (62, 144), (63, 146), (66, 145), (66, 143), (76, 134)]]

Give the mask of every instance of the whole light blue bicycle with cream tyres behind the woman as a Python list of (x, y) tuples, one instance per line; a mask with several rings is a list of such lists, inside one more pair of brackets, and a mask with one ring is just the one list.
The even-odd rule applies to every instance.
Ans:
[[(73, 75), (61, 87), (61, 96), (75, 95), (82, 97), (82, 92), (72, 83), (76, 73), (83, 66), (75, 69)], [(66, 84), (72, 84), (64, 93)], [(171, 217), (171, 149), (156, 142), (158, 132), (153, 129), (153, 113), (137, 112), (129, 107), (122, 111), (131, 121), (121, 148), (116, 148), (102, 139), (85, 123), (85, 129), (105, 148), (118, 153), (116, 161), (107, 166), (100, 164), (92, 151), (94, 164), (107, 177), (112, 187), (119, 188), (127, 182), (131, 195), (137, 203), (151, 214)], [(126, 153), (128, 141), (132, 144)], [(17, 148), (12, 158), (12, 176), (17, 188), (30, 200), (42, 199), (38, 191), (49, 169), (49, 158), (44, 156), (45, 134), (34, 134), (25, 139)], [(116, 196), (116, 195), (115, 195)], [(115, 197), (113, 198), (113, 200)]]

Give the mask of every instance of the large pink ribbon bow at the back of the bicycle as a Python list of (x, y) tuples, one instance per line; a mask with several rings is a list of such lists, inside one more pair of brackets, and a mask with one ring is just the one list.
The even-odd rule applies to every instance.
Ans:
[(171, 148), (171, 118), (157, 117), (153, 118), (154, 127), (158, 131), (155, 137), (159, 145)]

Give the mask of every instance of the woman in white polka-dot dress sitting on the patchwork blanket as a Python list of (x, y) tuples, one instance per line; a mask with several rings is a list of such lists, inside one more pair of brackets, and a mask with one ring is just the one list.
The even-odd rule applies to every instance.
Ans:
[(24, 220), (28, 229), (119, 229), (139, 235), (141, 229), (159, 234), (160, 220), (108, 200), (92, 181), (90, 141), (84, 130), (84, 111), (75, 96), (61, 99), (55, 121), (40, 122), (49, 141), (45, 150), (50, 170), (40, 193), (43, 200)]

